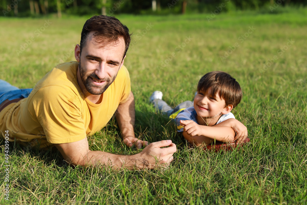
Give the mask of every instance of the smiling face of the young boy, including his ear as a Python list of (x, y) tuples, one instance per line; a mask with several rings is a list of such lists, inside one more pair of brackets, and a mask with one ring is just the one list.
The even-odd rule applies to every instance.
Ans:
[(232, 105), (226, 106), (225, 100), (220, 97), (219, 93), (212, 96), (211, 90), (212, 88), (209, 88), (206, 93), (198, 91), (194, 98), (196, 119), (201, 125), (212, 126), (216, 124), (220, 116), (227, 114), (233, 108)]

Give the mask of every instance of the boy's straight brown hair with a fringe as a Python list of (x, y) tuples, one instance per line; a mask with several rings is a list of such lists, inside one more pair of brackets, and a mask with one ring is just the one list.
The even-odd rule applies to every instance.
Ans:
[(225, 100), (226, 106), (237, 106), (242, 98), (242, 90), (235, 78), (222, 71), (212, 71), (200, 78), (197, 91), (206, 93), (212, 88), (212, 96), (218, 92), (220, 97)]

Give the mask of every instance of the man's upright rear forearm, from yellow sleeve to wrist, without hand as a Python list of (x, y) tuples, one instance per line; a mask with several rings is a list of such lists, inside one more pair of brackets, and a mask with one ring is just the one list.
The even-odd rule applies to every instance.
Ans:
[(134, 137), (135, 108), (132, 92), (130, 93), (128, 100), (118, 106), (115, 116), (122, 133), (122, 138), (124, 139), (127, 136)]

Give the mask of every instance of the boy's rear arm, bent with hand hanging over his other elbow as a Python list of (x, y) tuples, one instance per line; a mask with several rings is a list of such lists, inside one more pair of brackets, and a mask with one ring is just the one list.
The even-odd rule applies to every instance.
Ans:
[(235, 131), (236, 133), (235, 144), (242, 143), (245, 140), (245, 138), (248, 136), (247, 127), (244, 124), (242, 124), (239, 120), (236, 120), (233, 118), (227, 119), (212, 127), (220, 127), (220, 126), (227, 126), (227, 127), (232, 128)]

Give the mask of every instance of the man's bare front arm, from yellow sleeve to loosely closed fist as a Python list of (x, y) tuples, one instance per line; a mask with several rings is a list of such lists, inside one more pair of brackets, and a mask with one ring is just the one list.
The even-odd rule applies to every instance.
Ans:
[[(65, 161), (80, 166), (110, 166), (114, 170), (153, 169), (157, 165), (169, 164), (176, 152), (176, 145), (171, 140), (153, 142), (135, 155), (116, 155), (101, 151), (91, 151), (87, 138), (77, 142), (55, 144)], [(169, 146), (169, 147), (167, 147)], [(164, 148), (163, 148), (164, 147)]]

